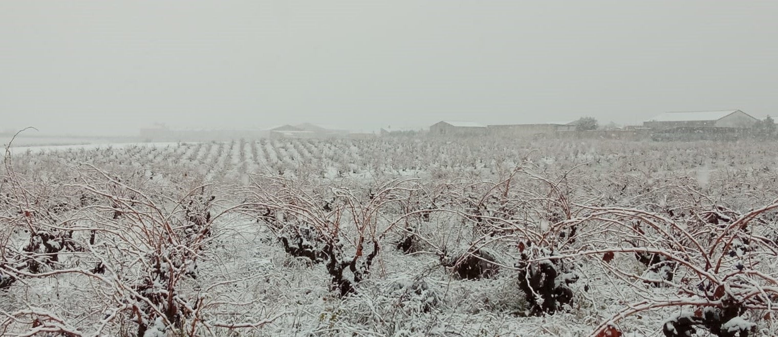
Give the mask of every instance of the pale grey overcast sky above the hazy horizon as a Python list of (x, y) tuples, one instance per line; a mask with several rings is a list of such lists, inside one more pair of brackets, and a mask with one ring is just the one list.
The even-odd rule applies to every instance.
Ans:
[(0, 2), (0, 130), (778, 112), (778, 2)]

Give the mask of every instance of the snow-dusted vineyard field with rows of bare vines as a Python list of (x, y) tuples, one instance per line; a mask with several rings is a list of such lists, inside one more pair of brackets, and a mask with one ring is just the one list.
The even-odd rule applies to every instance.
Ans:
[(776, 335), (778, 144), (11, 148), (0, 335)]

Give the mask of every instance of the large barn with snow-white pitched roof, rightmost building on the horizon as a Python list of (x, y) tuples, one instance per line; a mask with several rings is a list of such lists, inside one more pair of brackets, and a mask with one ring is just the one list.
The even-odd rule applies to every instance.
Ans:
[(741, 110), (662, 113), (643, 122), (644, 127), (667, 130), (675, 127), (752, 127), (756, 118)]

